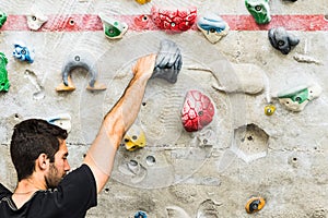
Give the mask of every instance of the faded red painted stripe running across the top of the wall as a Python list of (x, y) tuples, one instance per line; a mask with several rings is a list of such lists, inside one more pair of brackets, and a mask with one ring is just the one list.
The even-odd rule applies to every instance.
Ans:
[[(142, 20), (147, 16), (147, 21)], [(313, 15), (272, 15), (269, 24), (258, 25), (251, 15), (221, 15), (229, 23), (232, 31), (267, 31), (272, 27), (283, 26), (289, 31), (328, 31), (328, 21), (324, 14)], [(126, 22), (130, 31), (160, 31), (151, 21), (151, 15), (120, 15), (113, 16)], [(37, 32), (96, 32), (103, 31), (103, 24), (95, 14), (48, 15), (42, 28)], [(72, 23), (73, 22), (73, 23)], [(196, 31), (196, 24), (191, 27)], [(7, 22), (0, 29), (3, 31), (30, 31), (25, 15), (8, 15)]]

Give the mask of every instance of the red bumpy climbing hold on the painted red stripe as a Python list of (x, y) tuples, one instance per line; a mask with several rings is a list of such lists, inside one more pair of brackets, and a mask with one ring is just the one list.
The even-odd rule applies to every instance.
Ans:
[(168, 10), (152, 7), (152, 20), (161, 29), (172, 32), (188, 31), (197, 19), (197, 8), (191, 7), (186, 10)]

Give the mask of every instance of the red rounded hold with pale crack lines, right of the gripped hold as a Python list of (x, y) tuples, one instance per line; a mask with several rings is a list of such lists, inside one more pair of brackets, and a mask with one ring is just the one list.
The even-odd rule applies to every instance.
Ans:
[(186, 95), (183, 108), (183, 125), (187, 132), (203, 129), (212, 120), (215, 113), (211, 99), (199, 90), (189, 90)]

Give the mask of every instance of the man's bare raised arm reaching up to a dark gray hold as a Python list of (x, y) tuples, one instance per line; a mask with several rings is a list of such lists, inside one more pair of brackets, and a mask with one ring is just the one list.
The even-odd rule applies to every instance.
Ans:
[(118, 146), (139, 113), (154, 63), (155, 55), (143, 57), (137, 61), (132, 69), (133, 77), (124, 95), (105, 116), (99, 132), (85, 156), (84, 164), (91, 168), (95, 177), (97, 193), (102, 191), (109, 179)]

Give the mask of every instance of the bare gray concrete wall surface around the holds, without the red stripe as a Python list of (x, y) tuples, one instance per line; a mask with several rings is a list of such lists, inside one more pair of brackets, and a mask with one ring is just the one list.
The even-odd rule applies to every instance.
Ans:
[[(208, 10), (219, 14), (249, 14), (244, 2), (237, 0), (153, 0), (145, 5), (132, 0), (1, 1), (0, 9), (8, 14), (23, 15), (32, 7), (44, 14), (136, 15), (149, 14), (151, 7), (160, 3), (177, 8), (194, 4), (200, 14)], [(270, 2), (271, 13), (278, 15), (325, 14), (326, 4), (325, 0)], [(122, 39), (109, 40), (101, 31), (0, 29), (0, 51), (9, 59), (11, 82), (10, 90), (0, 94), (0, 182), (12, 190), (15, 187), (10, 137), (14, 124), (27, 118), (47, 119), (69, 113), (72, 118), (69, 160), (72, 168), (80, 166), (103, 116), (128, 84), (136, 59), (156, 52), (161, 39), (169, 38), (183, 52), (178, 82), (152, 80), (149, 83), (145, 105), (136, 121), (145, 132), (148, 146), (132, 153), (124, 147), (119, 149), (113, 177), (98, 196), (98, 206), (87, 217), (132, 217), (138, 210), (149, 217), (250, 217), (245, 204), (254, 195), (267, 202), (256, 217), (327, 217), (328, 33), (292, 33), (301, 43), (283, 56), (270, 45), (267, 31), (231, 31), (212, 45), (198, 31), (180, 34), (128, 31)], [(14, 60), (12, 51), (16, 40), (25, 40), (35, 48), (34, 63)], [(93, 55), (98, 81), (106, 84), (106, 90), (86, 90), (90, 75), (79, 70), (72, 73), (74, 92), (55, 90), (61, 83), (66, 57), (74, 50)], [(297, 55), (307, 55), (318, 63), (298, 62)], [(218, 83), (215, 77), (207, 71), (218, 61), (256, 64), (268, 78), (266, 89), (257, 95), (218, 92), (211, 86)], [(219, 72), (218, 80), (229, 86), (224, 84), (229, 76)], [(270, 117), (265, 114), (268, 95), (308, 83), (318, 84), (323, 93), (303, 111), (286, 110), (273, 98), (277, 111)], [(215, 105), (211, 124), (192, 134), (184, 130), (179, 120), (189, 89), (203, 92)], [(149, 157), (155, 162), (148, 161)], [(138, 162), (134, 171), (127, 168), (131, 160)]]

